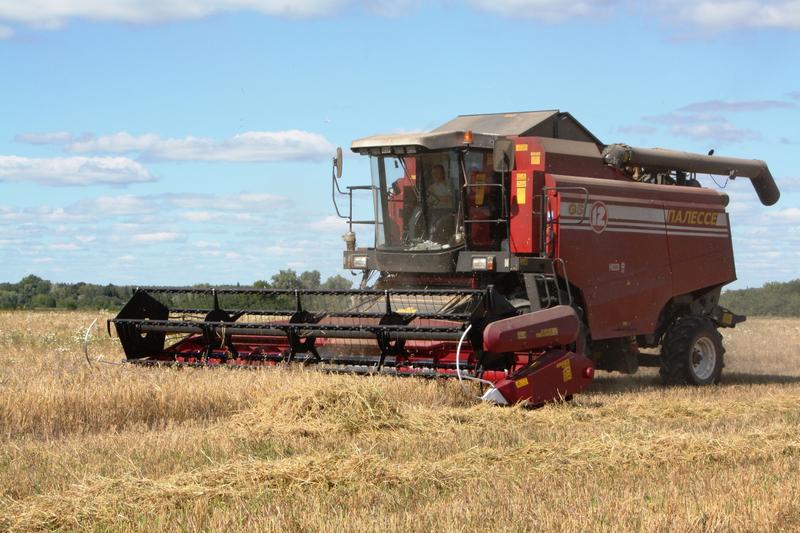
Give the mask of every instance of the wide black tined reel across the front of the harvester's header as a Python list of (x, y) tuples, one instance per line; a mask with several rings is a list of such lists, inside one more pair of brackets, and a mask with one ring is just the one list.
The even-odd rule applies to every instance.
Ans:
[[(251, 295), (258, 300), (272, 298), (283, 302), (281, 309), (248, 309), (251, 302), (232, 298), (227, 309), (220, 306), (220, 297)], [(154, 296), (160, 296), (161, 300)], [(208, 296), (211, 308), (188, 305), (182, 297)], [(325, 297), (339, 297), (346, 309), (334, 311), (306, 310), (304, 300), (322, 297), (317, 305), (326, 305)], [(283, 297), (276, 299), (275, 297)], [(294, 309), (286, 298), (294, 299)], [(250, 361), (292, 361), (298, 354), (308, 354), (318, 362), (348, 362), (354, 365), (376, 363), (380, 368), (400, 365), (410, 353), (407, 342), (457, 342), (469, 325), (491, 320), (497, 299), (493, 287), (485, 289), (428, 290), (303, 290), (253, 288), (178, 288), (146, 287), (137, 289), (113, 323), (128, 360), (180, 362), (189, 359), (240, 359)], [(184, 305), (170, 307), (175, 299)], [(398, 309), (393, 299), (400, 300)], [(312, 306), (313, 306), (312, 302)], [(330, 303), (329, 300), (327, 303)], [(268, 307), (269, 304), (267, 304)], [(402, 307), (400, 307), (402, 306)], [(258, 306), (262, 307), (262, 306)], [(238, 310), (237, 310), (238, 308)], [(365, 309), (366, 308), (366, 309)], [(418, 308), (422, 308), (417, 312)], [(452, 311), (452, 312), (451, 312)], [(194, 318), (191, 315), (196, 315)], [(250, 317), (250, 320), (247, 318)], [(254, 317), (265, 317), (263, 322)], [(244, 318), (243, 321), (239, 321)], [(364, 319), (359, 322), (359, 319)], [(353, 321), (353, 322), (349, 322)], [(475, 328), (476, 333), (481, 328)], [(166, 345), (166, 336), (185, 337)], [(317, 344), (317, 339), (322, 341)], [(328, 355), (318, 349), (328, 346), (325, 339), (359, 339), (376, 342), (380, 355), (374, 352)], [(475, 336), (473, 353), (480, 357), (482, 347)], [(253, 346), (266, 345), (274, 353), (265, 353)], [(339, 345), (341, 348), (342, 346)], [(419, 345), (409, 345), (415, 354), (415, 365), (444, 368), (433, 359), (427, 361), (418, 353)], [(363, 346), (353, 345), (356, 352)]]

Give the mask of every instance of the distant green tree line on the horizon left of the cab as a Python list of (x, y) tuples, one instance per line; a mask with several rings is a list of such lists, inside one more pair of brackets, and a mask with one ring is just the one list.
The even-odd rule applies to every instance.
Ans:
[[(235, 286), (239, 286), (238, 284)], [(349, 289), (352, 282), (343, 276), (331, 276), (322, 281), (319, 271), (298, 274), (294, 270), (281, 270), (269, 280), (252, 284), (260, 289)], [(193, 285), (207, 288), (207, 283)], [(219, 286), (217, 286), (219, 287)], [(134, 286), (96, 285), (93, 283), (53, 283), (35, 275), (22, 278), (17, 283), (0, 283), (0, 309), (120, 309), (127, 302)]]

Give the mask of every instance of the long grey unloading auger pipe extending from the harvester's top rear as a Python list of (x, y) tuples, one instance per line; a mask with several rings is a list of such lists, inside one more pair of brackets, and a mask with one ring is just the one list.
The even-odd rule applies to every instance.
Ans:
[(680, 170), (749, 178), (758, 199), (764, 205), (774, 205), (781, 197), (767, 164), (760, 159), (717, 157), (662, 148), (634, 148), (626, 144), (611, 144), (603, 150), (603, 161), (619, 170), (628, 166), (663, 170)]

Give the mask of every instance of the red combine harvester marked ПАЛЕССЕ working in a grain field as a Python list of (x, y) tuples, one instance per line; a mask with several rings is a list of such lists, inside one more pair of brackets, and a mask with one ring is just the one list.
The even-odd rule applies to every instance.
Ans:
[[(479, 381), (498, 404), (569, 398), (595, 370), (720, 379), (736, 279), (728, 197), (697, 173), (780, 193), (763, 161), (604, 145), (569, 113), (466, 115), (357, 140), (372, 184), (339, 186), (361, 289), (142, 288), (110, 321), (128, 361), (288, 362)], [(353, 219), (371, 195), (372, 220)], [(375, 228), (356, 246), (353, 226)], [(660, 347), (660, 353), (640, 348)]]

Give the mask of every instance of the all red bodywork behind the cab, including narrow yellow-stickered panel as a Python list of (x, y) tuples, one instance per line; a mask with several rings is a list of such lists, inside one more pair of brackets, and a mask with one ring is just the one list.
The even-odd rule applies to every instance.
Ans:
[[(592, 148), (548, 152), (552, 140), (514, 141), (510, 249), (564, 260), (593, 339), (653, 333), (674, 296), (736, 279), (728, 216), (716, 191), (636, 182), (604, 165)], [(541, 218), (548, 221), (544, 232)]]

